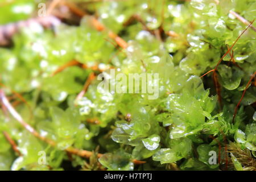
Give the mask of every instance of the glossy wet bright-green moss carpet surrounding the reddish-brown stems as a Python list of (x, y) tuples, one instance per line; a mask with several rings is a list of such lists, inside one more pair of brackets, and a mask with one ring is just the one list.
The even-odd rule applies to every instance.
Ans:
[[(97, 31), (91, 17), (85, 15), (79, 25), (61, 23), (54, 31), (40, 25), (23, 27), (13, 36), (13, 45), (0, 48), (1, 89), (12, 105), (20, 101), (12, 90), (20, 93), (30, 107), (20, 102), (15, 110), (40, 135), (56, 142), (52, 147), (31, 135), (2, 107), (0, 170), (64, 170), (66, 161), (71, 168), (85, 170), (102, 169), (100, 165), (108, 170), (152, 170), (168, 168), (169, 164), (181, 170), (218, 170), (230, 142), (236, 143), (237, 151), (255, 156), (255, 80), (232, 121), (243, 90), (256, 71), (255, 32), (249, 28), (234, 46), (233, 59), (228, 54), (218, 65), (221, 106), (209, 76), (212, 73), (199, 76), (214, 69), (228, 50), (226, 45), (232, 46), (245, 30), (230, 10), (251, 21), (256, 18), (256, 3), (165, 2), (88, 3), (86, 11), (97, 15), (108, 30)], [(1, 3), (7, 1), (0, 1), (0, 24), (27, 19), (38, 5), (28, 0)], [(109, 39), (109, 30), (128, 47), (117, 49)], [(88, 69), (76, 65), (52, 76), (71, 60)], [(110, 67), (127, 77), (129, 73), (158, 73), (159, 77), (147, 84), (158, 86), (159, 97), (150, 100), (149, 93), (109, 92), (99, 87), (102, 79), (96, 78), (76, 100), (90, 73), (100, 74), (90, 69), (94, 67), (105, 70), (104, 81), (109, 78), (112, 86), (121, 80), (112, 77)], [(2, 131), (8, 131), (22, 155), (15, 154)], [(100, 149), (95, 151), (97, 146)], [(85, 159), (66, 152), (70, 147), (94, 152)], [(42, 151), (46, 164), (39, 164)], [(209, 164), (210, 151), (221, 153), (219, 164)], [(103, 154), (98, 160), (97, 152)], [(230, 169), (248, 169), (237, 153), (227, 155)], [(134, 159), (146, 164), (135, 166)]]

